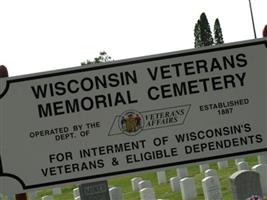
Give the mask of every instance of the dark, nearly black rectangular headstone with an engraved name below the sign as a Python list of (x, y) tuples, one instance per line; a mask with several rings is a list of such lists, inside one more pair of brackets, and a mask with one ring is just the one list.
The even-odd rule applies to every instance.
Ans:
[(83, 183), (79, 191), (82, 200), (110, 200), (107, 181)]

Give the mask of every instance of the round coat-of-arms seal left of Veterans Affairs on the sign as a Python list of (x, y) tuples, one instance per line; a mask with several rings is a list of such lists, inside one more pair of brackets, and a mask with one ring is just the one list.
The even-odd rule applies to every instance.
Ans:
[(119, 128), (126, 135), (137, 135), (143, 130), (144, 118), (140, 112), (128, 110), (123, 112), (119, 118)]

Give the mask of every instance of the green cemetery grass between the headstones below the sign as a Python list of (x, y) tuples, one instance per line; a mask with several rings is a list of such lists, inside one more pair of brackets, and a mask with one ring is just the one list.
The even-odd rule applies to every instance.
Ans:
[[(258, 164), (257, 157), (248, 157), (245, 159), (249, 167)], [(229, 176), (237, 171), (234, 161), (229, 161), (229, 167), (227, 169), (219, 170), (216, 163), (210, 163), (210, 168), (215, 169), (218, 172), (220, 182), (221, 182), (221, 189), (223, 194), (224, 200), (231, 200), (231, 190), (230, 190), (230, 184), (229, 184)], [(199, 166), (189, 166), (188, 167), (188, 173), (190, 177), (195, 178), (196, 182), (196, 188), (198, 193), (198, 200), (204, 200), (204, 195), (202, 191), (201, 186), (201, 180), (203, 179), (203, 175), (199, 171)], [(176, 176), (176, 169), (169, 169), (166, 170), (167, 180), (169, 180), (171, 177)], [(139, 193), (138, 192), (132, 192), (131, 187), (131, 178), (133, 177), (142, 177), (143, 180), (150, 180), (152, 182), (154, 191), (156, 193), (156, 197), (158, 199), (168, 199), (168, 200), (182, 200), (181, 193), (174, 193), (171, 192), (170, 184), (162, 184), (158, 185), (157, 182), (157, 176), (155, 172), (148, 172), (143, 174), (135, 174), (134, 176), (125, 176), (120, 178), (115, 178), (108, 180), (109, 186), (116, 186), (121, 187), (123, 190), (123, 197), (124, 200), (140, 200)], [(54, 200), (73, 200), (73, 192), (72, 190), (75, 188), (75, 186), (68, 186), (62, 188), (62, 195), (54, 196)], [(42, 190), (38, 192), (38, 196), (35, 198), (35, 200), (40, 200), (42, 196), (45, 195), (52, 195), (51, 190)], [(267, 198), (265, 198), (267, 199)]]

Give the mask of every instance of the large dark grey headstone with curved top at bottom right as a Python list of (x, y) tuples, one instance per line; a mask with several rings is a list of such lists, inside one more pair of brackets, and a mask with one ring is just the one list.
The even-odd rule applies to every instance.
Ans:
[(233, 200), (246, 200), (253, 195), (263, 198), (260, 175), (255, 171), (241, 170), (230, 176)]

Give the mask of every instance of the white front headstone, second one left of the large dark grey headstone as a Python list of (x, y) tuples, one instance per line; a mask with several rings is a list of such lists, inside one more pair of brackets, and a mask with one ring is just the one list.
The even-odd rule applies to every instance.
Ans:
[(197, 191), (194, 178), (183, 178), (180, 180), (183, 200), (195, 200)]

